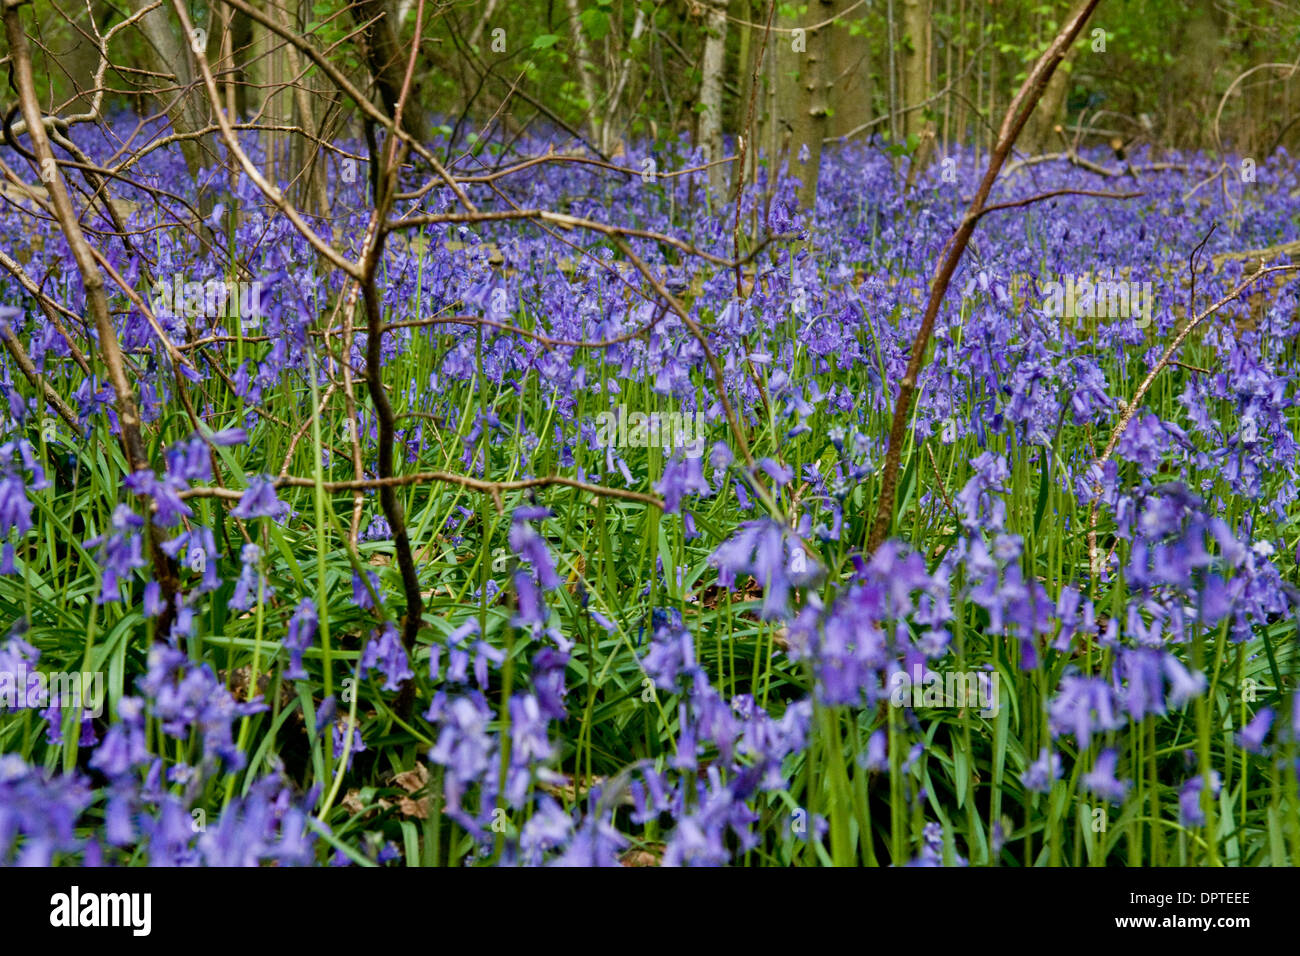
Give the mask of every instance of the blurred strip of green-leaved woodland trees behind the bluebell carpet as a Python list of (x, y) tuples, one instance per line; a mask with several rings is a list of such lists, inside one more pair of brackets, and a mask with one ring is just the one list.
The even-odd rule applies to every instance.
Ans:
[[(320, 65), (282, 42), (306, 36), (376, 105), (391, 107), (419, 44), (417, 137), (446, 155), (486, 127), (560, 131), (604, 157), (632, 139), (688, 137), (723, 157), (753, 117), (755, 164), (798, 161), (815, 191), (823, 143), (868, 138), (915, 166), (959, 146), (982, 152), (1074, 3), (1044, 0), (187, 0), (38, 4), (38, 75), (51, 113), (88, 108), (100, 38), (112, 39), (103, 112), (165, 114), (191, 169), (212, 161), (191, 44), (221, 65), (228, 111), (268, 130), (268, 172), (311, 204), (311, 138), (361, 137), (356, 111), (321, 90)], [(771, 31), (768, 31), (768, 25)], [(757, 82), (755, 82), (757, 77)], [(1288, 0), (1105, 0), (1070, 51), (1018, 151), (1104, 146), (1210, 150), (1261, 161), (1300, 150), (1300, 4)], [(715, 193), (736, 185), (719, 168)]]

